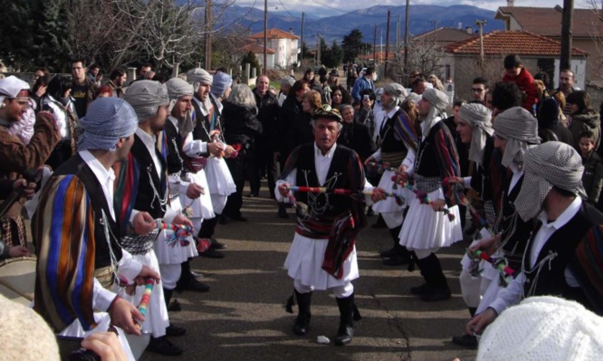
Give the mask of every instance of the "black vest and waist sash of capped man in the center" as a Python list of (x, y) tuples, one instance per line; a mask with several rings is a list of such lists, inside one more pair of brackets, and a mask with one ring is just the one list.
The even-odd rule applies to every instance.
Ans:
[[(327, 189), (349, 189), (348, 166), (352, 149), (337, 145), (327, 172), (326, 184), (318, 184), (314, 164), (314, 143), (301, 145), (297, 159), (295, 184), (303, 187), (327, 187)], [(352, 202), (349, 196), (333, 193), (295, 194), (298, 202), (308, 206), (307, 219), (298, 218), (297, 233), (310, 238), (329, 238), (333, 221), (338, 216), (349, 214)]]

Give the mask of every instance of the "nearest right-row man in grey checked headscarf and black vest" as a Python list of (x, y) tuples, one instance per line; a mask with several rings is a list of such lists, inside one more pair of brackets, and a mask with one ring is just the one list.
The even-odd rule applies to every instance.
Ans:
[(467, 324), (475, 333), (524, 297), (558, 295), (603, 314), (603, 215), (584, 201), (580, 155), (565, 143), (546, 142), (525, 152), (523, 171), (515, 206), (523, 221), (535, 221), (534, 234), (517, 277)]

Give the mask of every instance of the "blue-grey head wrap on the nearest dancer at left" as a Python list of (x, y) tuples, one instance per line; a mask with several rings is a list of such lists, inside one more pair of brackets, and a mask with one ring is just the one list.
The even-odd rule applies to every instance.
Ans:
[(126, 101), (109, 96), (90, 103), (86, 116), (80, 119), (80, 126), (83, 133), (78, 141), (78, 150), (114, 151), (120, 138), (134, 134), (138, 117)]

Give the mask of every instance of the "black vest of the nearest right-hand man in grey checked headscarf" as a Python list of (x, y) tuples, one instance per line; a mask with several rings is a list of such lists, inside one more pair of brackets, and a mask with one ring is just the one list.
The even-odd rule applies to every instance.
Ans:
[[(540, 222), (538, 222), (540, 224)], [(575, 300), (584, 306), (588, 306), (584, 292), (579, 287), (571, 287), (567, 284), (565, 270), (570, 261), (575, 257), (576, 246), (582, 241), (582, 237), (595, 225), (603, 224), (603, 215), (587, 202), (582, 202), (582, 207), (567, 222), (566, 225), (559, 228), (546, 241), (536, 262), (534, 269), (530, 267), (531, 248), (534, 245), (534, 237), (537, 230), (534, 231), (532, 239), (526, 248), (524, 272), (526, 281), (524, 283), (524, 294), (526, 297), (538, 295), (554, 295)], [(538, 271), (540, 263), (549, 254), (555, 256), (546, 260), (545, 264)]]

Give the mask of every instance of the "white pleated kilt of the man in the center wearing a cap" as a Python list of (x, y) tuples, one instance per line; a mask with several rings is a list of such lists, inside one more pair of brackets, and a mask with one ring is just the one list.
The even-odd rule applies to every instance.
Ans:
[(289, 254), (285, 260), (285, 268), (289, 277), (305, 286), (314, 286), (317, 290), (344, 286), (349, 281), (360, 277), (356, 247), (353, 248), (350, 256), (344, 261), (341, 280), (322, 269), (324, 251), (327, 249), (328, 243), (328, 239), (312, 239), (295, 233), (293, 243), (289, 248)]

